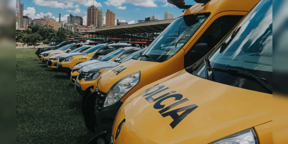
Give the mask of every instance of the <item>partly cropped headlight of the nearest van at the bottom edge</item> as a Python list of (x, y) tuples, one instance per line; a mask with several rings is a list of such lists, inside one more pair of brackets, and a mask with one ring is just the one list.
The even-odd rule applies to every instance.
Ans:
[(253, 128), (232, 134), (209, 144), (258, 144), (258, 139)]

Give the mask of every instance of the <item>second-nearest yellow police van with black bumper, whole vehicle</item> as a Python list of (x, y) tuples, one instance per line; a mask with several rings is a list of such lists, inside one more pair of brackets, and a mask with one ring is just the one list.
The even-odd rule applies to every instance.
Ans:
[[(85, 102), (83, 116), (88, 130), (111, 132), (117, 111), (131, 94), (199, 61), (258, 2), (195, 1), (198, 3), (192, 6), (175, 4), (187, 10), (138, 59), (123, 62), (100, 75), (96, 92)], [(206, 43), (205, 47), (197, 50), (202, 43)]]

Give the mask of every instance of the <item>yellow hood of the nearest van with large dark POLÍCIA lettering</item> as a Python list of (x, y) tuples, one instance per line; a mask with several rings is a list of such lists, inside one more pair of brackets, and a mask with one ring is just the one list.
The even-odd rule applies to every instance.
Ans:
[(113, 125), (115, 137), (125, 119), (117, 143), (210, 143), (272, 121), (272, 94), (220, 84), (185, 70), (158, 82), (138, 90), (121, 106)]

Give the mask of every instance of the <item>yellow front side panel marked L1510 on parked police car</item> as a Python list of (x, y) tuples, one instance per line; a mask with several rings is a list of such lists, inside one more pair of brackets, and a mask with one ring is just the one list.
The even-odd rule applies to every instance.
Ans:
[[(97, 50), (96, 50), (97, 51)], [(95, 51), (95, 52), (96, 52)], [(81, 63), (81, 62), (85, 62), (85, 61), (88, 61), (92, 56), (93, 54), (95, 53), (89, 53), (87, 55), (78, 55), (78, 56), (72, 56), (73, 59), (70, 61), (70, 62), (58, 62), (58, 64), (62, 65), (62, 67), (68, 67), (69, 69), (73, 69), (73, 67), (75, 67), (75, 65), (77, 65), (78, 63)]]

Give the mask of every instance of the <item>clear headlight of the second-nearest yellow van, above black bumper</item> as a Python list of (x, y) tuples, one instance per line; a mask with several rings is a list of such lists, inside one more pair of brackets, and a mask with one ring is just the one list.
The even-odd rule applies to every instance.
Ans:
[(127, 92), (129, 92), (134, 86), (136, 86), (140, 79), (140, 71), (128, 75), (118, 81), (109, 90), (104, 102), (104, 107), (108, 107), (119, 101)]

